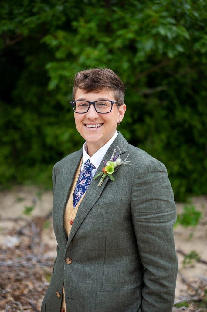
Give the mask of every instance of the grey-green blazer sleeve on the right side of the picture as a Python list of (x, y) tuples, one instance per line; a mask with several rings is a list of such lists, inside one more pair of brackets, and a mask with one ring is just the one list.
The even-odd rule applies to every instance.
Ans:
[(144, 266), (141, 312), (172, 312), (178, 271), (173, 235), (177, 214), (167, 170), (155, 158), (142, 163), (135, 175), (131, 215)]

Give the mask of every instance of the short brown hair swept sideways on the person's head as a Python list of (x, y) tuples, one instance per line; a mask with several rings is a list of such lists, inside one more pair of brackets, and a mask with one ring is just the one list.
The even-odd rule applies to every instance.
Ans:
[(124, 104), (124, 84), (109, 68), (92, 68), (76, 73), (73, 85), (73, 100), (77, 88), (85, 92), (100, 92), (102, 89), (114, 91), (115, 100)]

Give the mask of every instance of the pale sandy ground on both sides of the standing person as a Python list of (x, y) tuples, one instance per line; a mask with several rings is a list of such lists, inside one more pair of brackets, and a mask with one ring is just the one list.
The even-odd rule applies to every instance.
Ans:
[[(174, 238), (176, 250), (182, 250), (188, 253), (195, 250), (199, 253), (201, 258), (207, 261), (207, 196), (191, 197), (191, 204), (195, 205), (198, 211), (202, 212), (197, 227), (184, 228), (177, 226), (174, 229)], [(10, 220), (3, 220), (4, 218), (43, 216), (52, 210), (53, 196), (51, 191), (41, 191), (38, 187), (16, 186), (11, 190), (0, 192), (0, 248), (5, 245), (8, 246), (12, 241), (11, 236), (5, 236), (4, 229), (13, 227), (14, 222)], [(177, 213), (181, 213), (183, 206), (186, 204), (176, 203)], [(189, 204), (188, 204), (189, 205)], [(25, 216), (25, 206), (33, 206), (34, 210), (31, 216)], [(42, 240), (45, 245), (48, 245), (47, 254), (56, 257), (56, 239), (52, 227), (52, 217), (49, 219), (50, 225), (42, 232)], [(21, 222), (19, 223), (21, 225)], [(195, 283), (199, 281), (199, 276), (207, 278), (207, 265), (199, 262), (191, 266), (184, 267), (182, 261), (184, 256), (177, 252), (179, 260), (179, 272), (182, 273), (190, 282)], [(179, 295), (185, 295), (187, 292), (187, 285), (181, 280), (180, 275), (177, 276), (177, 286), (175, 299)]]

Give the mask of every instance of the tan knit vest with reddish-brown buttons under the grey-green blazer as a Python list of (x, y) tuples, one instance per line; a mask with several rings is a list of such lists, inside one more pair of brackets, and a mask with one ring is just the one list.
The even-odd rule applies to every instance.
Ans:
[[(68, 201), (66, 204), (66, 208), (65, 208), (65, 212), (64, 212), (64, 228), (65, 228), (65, 232), (67, 233), (67, 236), (69, 236), (70, 231), (71, 231), (71, 227), (72, 227), (72, 223), (76, 217), (76, 213), (78, 210), (78, 206), (80, 205), (81, 201), (83, 200), (84, 195), (81, 197), (80, 201), (78, 202), (78, 204), (76, 205), (76, 208), (73, 208), (73, 193), (75, 191), (76, 188), (76, 184), (78, 182), (78, 177), (81, 171), (81, 166), (83, 163), (83, 157), (81, 158), (81, 161), (78, 165), (76, 174), (74, 176), (74, 180), (70, 189), (70, 193), (69, 193), (69, 197), (68, 197)], [(65, 304), (65, 289), (64, 289), (64, 284), (63, 284), (63, 288), (62, 288), (62, 303), (61, 303), (61, 308), (65, 309), (66, 312), (66, 304)]]

